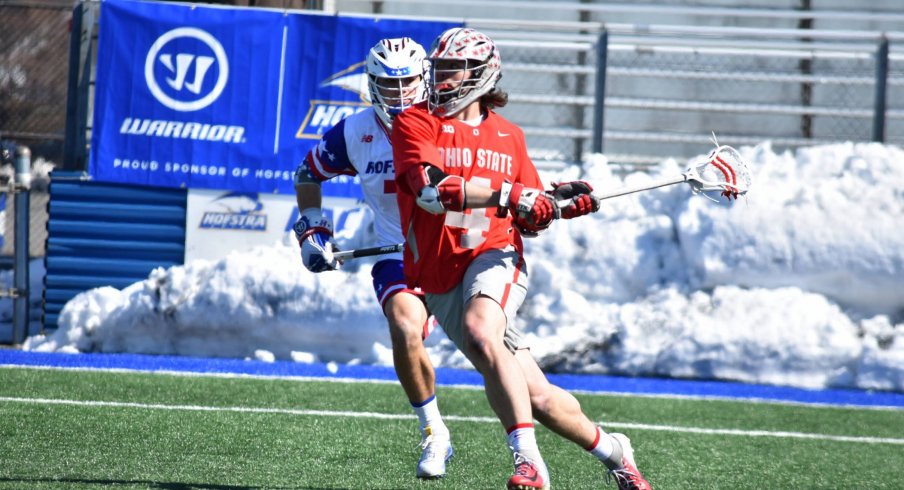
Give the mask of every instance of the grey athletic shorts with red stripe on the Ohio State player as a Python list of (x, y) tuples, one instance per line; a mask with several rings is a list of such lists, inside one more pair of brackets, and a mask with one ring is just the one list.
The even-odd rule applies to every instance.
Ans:
[(478, 294), (488, 296), (502, 306), (506, 318), (504, 342), (508, 350), (514, 353), (527, 349), (529, 346), (523, 334), (515, 328), (515, 316), (527, 296), (527, 266), (512, 247), (489, 250), (477, 256), (465, 271), (462, 282), (448, 292), (425, 294), (430, 312), (462, 352), (461, 324), (465, 304)]

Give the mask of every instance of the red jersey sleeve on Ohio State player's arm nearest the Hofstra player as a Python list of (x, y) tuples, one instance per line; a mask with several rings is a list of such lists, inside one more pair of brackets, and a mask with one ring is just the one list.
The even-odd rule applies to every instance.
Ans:
[(411, 194), (405, 179), (399, 178), (415, 165), (428, 163), (443, 168), (436, 148), (436, 135), (427, 115), (417, 109), (403, 111), (392, 123), (392, 159), (396, 171), (396, 187)]

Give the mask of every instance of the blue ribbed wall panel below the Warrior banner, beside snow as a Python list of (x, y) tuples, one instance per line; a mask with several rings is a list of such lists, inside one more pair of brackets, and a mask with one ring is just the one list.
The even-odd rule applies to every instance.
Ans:
[(54, 172), (44, 259), (44, 327), (82, 291), (124, 288), (185, 257), (187, 191), (80, 180)]

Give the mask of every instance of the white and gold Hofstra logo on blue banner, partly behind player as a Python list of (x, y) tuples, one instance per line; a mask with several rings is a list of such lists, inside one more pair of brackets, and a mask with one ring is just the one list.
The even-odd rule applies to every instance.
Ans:
[(358, 96), (360, 102), (312, 100), (308, 113), (295, 134), (296, 138), (319, 139), (339, 121), (370, 106), (370, 91), (367, 88), (364, 64), (363, 61), (355, 63), (320, 83), (321, 88), (338, 87), (352, 92)]

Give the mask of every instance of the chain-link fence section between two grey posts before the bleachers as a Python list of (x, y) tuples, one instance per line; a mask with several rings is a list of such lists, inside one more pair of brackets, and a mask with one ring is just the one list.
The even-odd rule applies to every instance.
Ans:
[(722, 143), (770, 140), (777, 149), (870, 141), (875, 52), (870, 44), (846, 51), (610, 44), (606, 153), (650, 162), (689, 157), (703, 152), (711, 131)]

